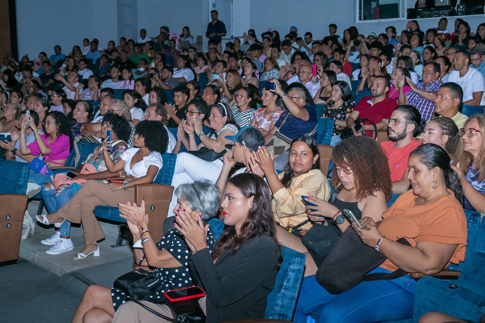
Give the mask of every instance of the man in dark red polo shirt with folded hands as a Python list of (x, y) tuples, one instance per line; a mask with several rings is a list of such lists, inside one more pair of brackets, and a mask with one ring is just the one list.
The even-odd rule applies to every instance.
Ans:
[[(394, 109), (397, 107), (397, 102), (388, 96), (390, 89), (390, 80), (384, 76), (376, 76), (371, 84), (371, 96), (363, 97), (357, 103), (354, 111), (347, 117), (347, 127), (354, 130), (357, 117), (361, 119), (368, 119), (372, 121), (377, 130), (386, 129), (387, 119), (391, 116)], [(373, 138), (374, 126), (370, 121), (364, 121), (365, 134)]]

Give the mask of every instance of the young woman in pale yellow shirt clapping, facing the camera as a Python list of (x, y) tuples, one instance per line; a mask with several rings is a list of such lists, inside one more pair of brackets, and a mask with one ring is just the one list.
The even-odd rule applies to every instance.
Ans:
[[(266, 181), (273, 194), (271, 208), (276, 226), (278, 241), (299, 252), (307, 252), (301, 239), (288, 232), (287, 228), (299, 225), (308, 220), (305, 203), (301, 196), (316, 196), (328, 200), (330, 185), (320, 171), (320, 153), (318, 145), (312, 137), (298, 136), (291, 141), (290, 155), (285, 170), (276, 174), (271, 155), (266, 148), (260, 147), (253, 152), (254, 160), (264, 172)], [(308, 230), (313, 225), (309, 222), (300, 226), (301, 230)], [(307, 253), (305, 273), (308, 270), (316, 271), (313, 260)], [(310, 274), (311, 275), (311, 274)]]

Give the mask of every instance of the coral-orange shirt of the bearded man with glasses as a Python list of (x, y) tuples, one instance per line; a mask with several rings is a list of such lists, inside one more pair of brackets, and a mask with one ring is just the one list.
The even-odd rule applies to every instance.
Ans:
[(389, 160), (389, 170), (391, 171), (391, 182), (401, 180), (404, 171), (408, 168), (409, 154), (419, 145), (420, 142), (413, 138), (413, 141), (401, 148), (394, 147), (395, 142), (390, 140), (381, 143)]

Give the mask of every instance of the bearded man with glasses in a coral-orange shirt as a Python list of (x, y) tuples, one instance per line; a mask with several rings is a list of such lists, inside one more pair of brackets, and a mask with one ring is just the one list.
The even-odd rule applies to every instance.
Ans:
[(409, 189), (407, 160), (414, 148), (420, 145), (415, 137), (421, 132), (424, 123), (418, 109), (411, 105), (400, 105), (388, 119), (389, 140), (381, 146), (389, 159), (392, 193), (403, 194)]

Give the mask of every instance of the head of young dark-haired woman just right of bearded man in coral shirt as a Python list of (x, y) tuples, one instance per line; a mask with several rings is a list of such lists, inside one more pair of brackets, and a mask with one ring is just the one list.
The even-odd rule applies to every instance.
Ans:
[(449, 117), (435, 117), (428, 121), (421, 135), (423, 144), (441, 146), (450, 158), (454, 159), (460, 144), (460, 133), (454, 121)]

